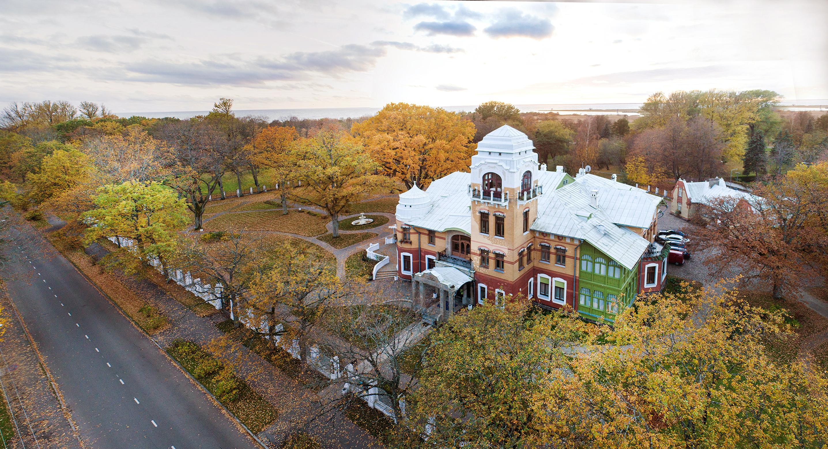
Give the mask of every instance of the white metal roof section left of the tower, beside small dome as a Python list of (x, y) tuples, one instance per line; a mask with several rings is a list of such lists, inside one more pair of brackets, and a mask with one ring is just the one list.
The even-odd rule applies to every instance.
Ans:
[(407, 221), (407, 224), (437, 232), (458, 229), (471, 234), (470, 182), (471, 173), (463, 171), (455, 171), (431, 182), (426, 189), (431, 209), (425, 215)]

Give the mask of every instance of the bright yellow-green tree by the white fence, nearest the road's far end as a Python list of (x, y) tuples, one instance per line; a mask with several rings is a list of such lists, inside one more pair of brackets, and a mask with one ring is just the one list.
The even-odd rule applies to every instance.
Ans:
[(132, 239), (132, 246), (113, 253), (118, 264), (137, 271), (157, 259), (164, 276), (169, 276), (168, 260), (176, 249), (177, 231), (186, 224), (185, 201), (175, 191), (154, 181), (126, 181), (100, 187), (94, 204), (95, 208), (84, 214), (90, 222), (87, 242), (108, 237)]

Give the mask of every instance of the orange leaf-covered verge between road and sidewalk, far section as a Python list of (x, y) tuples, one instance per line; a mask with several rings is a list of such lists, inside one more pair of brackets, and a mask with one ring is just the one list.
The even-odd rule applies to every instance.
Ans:
[[(59, 234), (60, 231), (47, 235), (47, 238), (51, 240), (52, 236)], [(91, 279), (101, 291), (106, 293), (113, 302), (118, 304), (118, 307), (121, 307), (132, 318), (132, 321), (135, 321), (147, 334), (156, 334), (170, 326), (167, 317), (161, 315), (155, 307), (152, 307), (152, 303), (147, 301), (144, 292), (135, 291), (134, 288), (125, 286), (116, 274), (108, 273), (102, 266), (93, 263), (90, 256), (82, 250), (65, 250), (63, 255), (74, 263), (81, 273)]]

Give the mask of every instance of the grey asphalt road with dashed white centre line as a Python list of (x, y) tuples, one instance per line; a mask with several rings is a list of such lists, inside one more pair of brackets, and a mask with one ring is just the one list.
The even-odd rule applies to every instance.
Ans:
[(12, 229), (9, 249), (8, 292), (85, 447), (258, 447), (39, 234)]

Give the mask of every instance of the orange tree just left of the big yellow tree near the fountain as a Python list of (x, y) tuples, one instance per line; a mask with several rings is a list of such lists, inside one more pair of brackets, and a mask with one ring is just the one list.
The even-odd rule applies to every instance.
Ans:
[(296, 128), (272, 126), (262, 129), (249, 143), (253, 164), (272, 169), (273, 179), (279, 186), (284, 215), (287, 215), (289, 184), (296, 179), (296, 159), (290, 151), (296, 138)]

